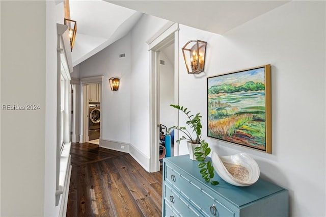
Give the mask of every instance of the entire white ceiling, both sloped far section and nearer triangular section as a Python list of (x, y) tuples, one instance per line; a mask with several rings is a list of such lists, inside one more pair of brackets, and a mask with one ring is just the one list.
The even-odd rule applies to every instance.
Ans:
[(142, 13), (223, 34), (289, 1), (101, 1), (70, 0), (77, 21), (73, 65), (125, 36)]

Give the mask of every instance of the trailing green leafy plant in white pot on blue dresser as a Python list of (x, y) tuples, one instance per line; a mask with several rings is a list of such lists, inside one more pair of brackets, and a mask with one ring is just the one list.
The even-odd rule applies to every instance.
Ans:
[[(188, 127), (192, 128), (192, 133), (187, 130), (187, 128), (180, 127), (180, 126), (173, 126), (168, 129), (177, 129), (184, 133), (181, 138), (179, 138), (176, 142), (180, 143), (181, 140), (187, 140), (187, 147), (189, 151), (189, 157), (192, 160), (200, 161), (198, 167), (201, 168), (200, 173), (202, 174), (202, 178), (205, 179), (206, 182), (210, 182), (213, 185), (219, 184), (218, 181), (212, 181), (214, 177), (214, 168), (210, 160), (207, 160), (207, 156), (210, 153), (210, 148), (208, 147), (208, 143), (205, 140), (201, 140), (201, 129), (202, 124), (200, 118), (202, 116), (200, 113), (197, 113), (195, 116), (191, 115), (191, 111), (187, 111), (187, 108), (180, 105), (173, 105), (170, 106), (177, 108), (178, 110), (182, 111), (189, 120), (186, 121)], [(196, 137), (193, 137), (193, 134), (196, 134)]]

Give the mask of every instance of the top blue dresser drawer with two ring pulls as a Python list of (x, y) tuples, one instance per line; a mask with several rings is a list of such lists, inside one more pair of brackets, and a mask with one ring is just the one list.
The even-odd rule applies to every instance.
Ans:
[[(166, 165), (166, 181), (206, 216), (233, 217), (234, 212), (221, 204), (221, 198), (203, 189), (203, 184), (191, 178), (180, 169)], [(191, 189), (191, 191), (189, 191)]]

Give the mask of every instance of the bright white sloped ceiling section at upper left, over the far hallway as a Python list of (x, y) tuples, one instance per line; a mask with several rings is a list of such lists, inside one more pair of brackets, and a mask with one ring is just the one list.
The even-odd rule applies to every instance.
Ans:
[(73, 66), (125, 36), (142, 13), (101, 0), (70, 0), (70, 18), (77, 21)]

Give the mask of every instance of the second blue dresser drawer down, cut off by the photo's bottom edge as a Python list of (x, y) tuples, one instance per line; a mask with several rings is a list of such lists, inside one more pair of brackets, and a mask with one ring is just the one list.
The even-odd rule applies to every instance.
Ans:
[[(173, 187), (169, 184), (165, 184), (164, 186), (164, 193), (163, 193), (164, 200), (166, 204), (170, 205), (172, 209), (175, 210), (174, 216), (202, 216), (199, 212), (189, 204), (187, 200), (185, 200)], [(169, 215), (166, 215), (169, 216)]]

